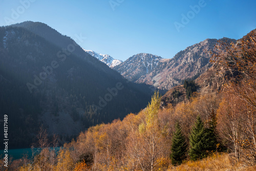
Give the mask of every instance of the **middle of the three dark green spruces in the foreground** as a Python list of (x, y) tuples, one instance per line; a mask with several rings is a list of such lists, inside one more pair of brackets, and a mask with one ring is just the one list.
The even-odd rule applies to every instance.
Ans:
[(190, 149), (188, 154), (191, 160), (202, 159), (205, 157), (204, 136), (204, 124), (200, 116), (198, 116), (189, 137)]

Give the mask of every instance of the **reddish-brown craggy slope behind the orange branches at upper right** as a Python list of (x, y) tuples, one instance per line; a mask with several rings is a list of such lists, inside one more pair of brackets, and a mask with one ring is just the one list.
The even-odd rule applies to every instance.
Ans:
[[(249, 54), (248, 51), (249, 49), (253, 49), (253, 48), (248, 48), (247, 46), (245, 46), (246, 48), (244, 48), (244, 42), (249, 42), (249, 40), (252, 39), (252, 37), (255, 37), (256, 34), (256, 29), (252, 30), (251, 32), (249, 32), (247, 35), (243, 36), (241, 39), (238, 40), (233, 40), (232, 39), (232, 44), (234, 45), (234, 47), (236, 47), (237, 49), (242, 49), (241, 51), (237, 50), (234, 47), (232, 47), (232, 45), (230, 44), (230, 42), (227, 42), (227, 44), (224, 45), (225, 46), (230, 46), (229, 48), (233, 51), (234, 54), (232, 54), (233, 56), (237, 55), (241, 55), (245, 53), (245, 54)], [(253, 40), (253, 39), (252, 39)], [(255, 41), (253, 40), (254, 44), (249, 44), (250, 46), (254, 46), (255, 45)], [(242, 46), (242, 45), (243, 46)], [(222, 46), (221, 46), (222, 47)], [(226, 47), (224, 47), (223, 49), (218, 49), (218, 51), (216, 50), (216, 53), (220, 56), (222, 56), (223, 54), (226, 54)], [(248, 49), (247, 49), (248, 48)], [(245, 51), (245, 52), (243, 52)], [(255, 52), (255, 51), (253, 51)], [(200, 94), (208, 94), (208, 93), (212, 93), (212, 92), (222, 92), (223, 90), (225, 90), (225, 84), (226, 83), (230, 83), (230, 81), (232, 82), (241, 82), (241, 81), (245, 81), (247, 82), (248, 80), (248, 75), (244, 74), (244, 71), (241, 72), (241, 69), (244, 69), (245, 72), (247, 70), (249, 70), (248, 73), (253, 73), (253, 69), (251, 69), (251, 66), (254, 66), (253, 64), (255, 63), (255, 60), (253, 58), (254, 55), (253, 53), (250, 53), (249, 56), (245, 57), (243, 60), (243, 58), (232, 58), (230, 57), (230, 63), (228, 63), (228, 67), (225, 67), (223, 65), (223, 63), (218, 63), (215, 62), (214, 65), (212, 65), (211, 68), (209, 68), (205, 73), (203, 73), (202, 75), (200, 75), (200, 77), (198, 77), (195, 82), (198, 86), (198, 92)], [(232, 59), (232, 60), (231, 60)], [(213, 59), (216, 60), (216, 59)], [(221, 61), (223, 62), (223, 61)], [(240, 65), (240, 63), (243, 63), (243, 65)], [(244, 68), (240, 67), (243, 66)], [(251, 71), (252, 70), (252, 71)]]

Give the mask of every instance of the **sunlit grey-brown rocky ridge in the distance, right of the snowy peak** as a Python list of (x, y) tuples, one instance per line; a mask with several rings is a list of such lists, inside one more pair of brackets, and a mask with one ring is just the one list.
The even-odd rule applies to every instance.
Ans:
[[(222, 38), (222, 41), (234, 41), (234, 39)], [(214, 48), (218, 39), (206, 39), (185, 50), (177, 53), (172, 59), (158, 58), (154, 66), (150, 69), (144, 66), (143, 62), (138, 62), (134, 56), (127, 59), (121, 65), (114, 67), (125, 78), (137, 82), (154, 85), (158, 89), (169, 90), (181, 84), (184, 79), (196, 79), (207, 71), (210, 54), (207, 53)], [(135, 55), (137, 56), (137, 55)], [(154, 57), (154, 55), (151, 55)], [(147, 60), (154, 60), (154, 58)]]

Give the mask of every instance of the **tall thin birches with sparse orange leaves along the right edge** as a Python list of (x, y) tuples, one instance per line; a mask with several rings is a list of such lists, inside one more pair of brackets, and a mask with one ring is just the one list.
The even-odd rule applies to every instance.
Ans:
[[(256, 30), (228, 45), (220, 42), (212, 62), (227, 74), (219, 112), (220, 134), (238, 161), (256, 162)], [(232, 77), (230, 76), (232, 75)], [(226, 145), (227, 145), (226, 144)]]

